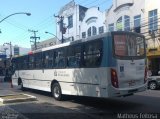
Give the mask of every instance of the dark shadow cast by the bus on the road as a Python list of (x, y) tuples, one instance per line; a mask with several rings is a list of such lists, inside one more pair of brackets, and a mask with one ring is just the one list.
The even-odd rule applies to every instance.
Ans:
[[(43, 96), (52, 97), (51, 93), (27, 89), (27, 91), (40, 94)], [(53, 99), (54, 100), (54, 99)], [(65, 99), (60, 103), (71, 102), (78, 104), (75, 109), (77, 110), (96, 110), (101, 112), (118, 112), (118, 113), (140, 113), (140, 112), (153, 112), (158, 113), (160, 110), (160, 98), (151, 97), (150, 95), (133, 95), (129, 97), (117, 98), (93, 98), (83, 96), (65, 96)], [(59, 101), (58, 101), (59, 102)]]

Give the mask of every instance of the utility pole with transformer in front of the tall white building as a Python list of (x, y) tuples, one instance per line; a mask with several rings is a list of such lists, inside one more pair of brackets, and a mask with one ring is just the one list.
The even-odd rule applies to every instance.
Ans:
[(61, 43), (63, 43), (64, 42), (64, 38), (63, 38), (63, 34), (65, 34), (65, 28), (64, 28), (64, 26), (63, 26), (63, 20), (64, 20), (64, 17), (63, 16), (59, 16), (59, 15), (54, 15), (54, 17), (57, 17), (57, 18), (59, 18), (59, 24), (60, 24), (60, 31), (62, 32), (62, 40), (61, 40)]

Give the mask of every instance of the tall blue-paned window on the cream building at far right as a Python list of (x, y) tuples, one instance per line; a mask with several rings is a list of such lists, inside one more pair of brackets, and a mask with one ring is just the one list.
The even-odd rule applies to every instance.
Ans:
[(158, 29), (157, 9), (149, 11), (149, 30)]

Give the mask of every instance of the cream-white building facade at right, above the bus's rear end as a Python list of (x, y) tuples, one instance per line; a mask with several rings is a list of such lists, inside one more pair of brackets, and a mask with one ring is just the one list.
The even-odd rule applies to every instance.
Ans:
[(159, 0), (113, 0), (106, 12), (107, 31), (132, 31), (146, 37), (148, 48), (159, 43)]

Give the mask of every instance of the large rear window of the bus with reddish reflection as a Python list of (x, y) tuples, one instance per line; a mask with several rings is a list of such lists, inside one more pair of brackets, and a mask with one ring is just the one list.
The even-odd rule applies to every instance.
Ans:
[(113, 34), (114, 54), (116, 56), (144, 56), (144, 37), (136, 34)]

